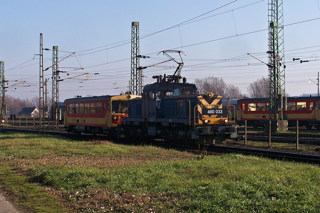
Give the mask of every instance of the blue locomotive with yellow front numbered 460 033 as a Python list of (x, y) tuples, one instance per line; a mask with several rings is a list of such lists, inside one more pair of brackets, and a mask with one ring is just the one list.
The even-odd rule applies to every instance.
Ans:
[(145, 85), (141, 97), (128, 101), (128, 116), (120, 126), (125, 136), (182, 144), (225, 143), (237, 138), (220, 95), (199, 95), (195, 84), (185, 78), (179, 83), (180, 76), (153, 78), (157, 82)]

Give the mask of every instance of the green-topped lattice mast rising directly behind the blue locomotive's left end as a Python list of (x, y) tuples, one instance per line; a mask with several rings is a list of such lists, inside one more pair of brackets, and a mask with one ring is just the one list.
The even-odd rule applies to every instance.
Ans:
[(142, 95), (143, 70), (140, 67), (139, 22), (132, 22), (130, 94)]

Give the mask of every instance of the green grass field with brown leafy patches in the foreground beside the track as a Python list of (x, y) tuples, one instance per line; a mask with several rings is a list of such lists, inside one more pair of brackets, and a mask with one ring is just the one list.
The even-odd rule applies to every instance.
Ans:
[(320, 168), (0, 133), (0, 186), (35, 212), (320, 212)]

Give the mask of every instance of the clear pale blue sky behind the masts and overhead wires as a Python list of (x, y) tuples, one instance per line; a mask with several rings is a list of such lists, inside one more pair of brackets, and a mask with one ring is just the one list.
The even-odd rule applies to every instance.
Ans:
[[(284, 26), (288, 25), (284, 27), (284, 48), (286, 92), (289, 95), (317, 92), (317, 85), (312, 81), (309, 84), (309, 79), (316, 82), (320, 70), (318, 1), (283, 0)], [(140, 23), (140, 54), (151, 57), (140, 59), (141, 66), (167, 60), (163, 55), (157, 56), (162, 50), (182, 50), (187, 54), (183, 56), (182, 76), (188, 82), (207, 76), (220, 77), (245, 94), (250, 83), (268, 76), (265, 64), (247, 56), (247, 53), (262, 53), (255, 56), (268, 63), (265, 53), (268, 51), (268, 30), (264, 30), (268, 29), (268, 0), (237, 0), (217, 9), (231, 2), (233, 0), (3, 0), (0, 60), (5, 62), (8, 86), (26, 81), (9, 87), (6, 94), (29, 99), (39, 95), (39, 56), (35, 54), (39, 54), (40, 33), (43, 33), (44, 48), (59, 46), (59, 60), (68, 56), (66, 52), (76, 52), (62, 60), (59, 67), (84, 68), (60, 68), (69, 74), (60, 73), (61, 79), (90, 73), (89, 79), (83, 75), (61, 81), (60, 101), (75, 95), (117, 95), (129, 90), (132, 21)], [(212, 12), (207, 13), (209, 11)], [(193, 20), (186, 22), (190, 19)], [(310, 19), (316, 20), (293, 24)], [(187, 24), (173, 27), (184, 22)], [(165, 30), (170, 27), (173, 28)], [(145, 37), (161, 30), (164, 31)], [(264, 31), (251, 33), (258, 30)], [(230, 36), (234, 37), (226, 38)], [(172, 57), (178, 55), (172, 54)], [(293, 62), (293, 57), (316, 61), (300, 64)], [(44, 58), (44, 67), (51, 66), (52, 51), (45, 51)], [(173, 66), (177, 64), (170, 62), (145, 69), (144, 83), (155, 82), (153, 75), (173, 74)], [(51, 96), (52, 69), (45, 73), (45, 77), (50, 78), (48, 92)]]

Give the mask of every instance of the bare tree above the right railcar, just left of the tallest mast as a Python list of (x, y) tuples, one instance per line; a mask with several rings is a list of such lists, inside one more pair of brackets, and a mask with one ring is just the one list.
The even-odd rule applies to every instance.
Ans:
[(248, 87), (249, 96), (252, 98), (266, 98), (269, 96), (268, 78), (262, 77)]

